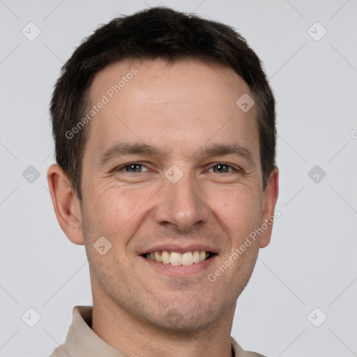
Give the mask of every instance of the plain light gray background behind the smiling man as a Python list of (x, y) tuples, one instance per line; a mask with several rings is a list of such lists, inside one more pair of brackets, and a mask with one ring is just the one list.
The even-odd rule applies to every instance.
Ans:
[[(158, 5), (234, 26), (277, 100), (281, 217), (238, 299), (232, 335), (271, 357), (357, 356), (356, 0), (0, 0), (0, 356), (49, 356), (73, 306), (91, 305), (84, 247), (61, 231), (46, 179), (59, 70), (98, 25)], [(22, 34), (29, 22), (41, 31), (33, 41)], [(318, 41), (307, 31), (315, 22), (327, 30)], [(40, 172), (33, 183), (22, 176), (29, 165)], [(326, 172), (318, 183), (308, 176), (315, 165)], [(29, 307), (41, 317), (32, 328), (21, 318)]]

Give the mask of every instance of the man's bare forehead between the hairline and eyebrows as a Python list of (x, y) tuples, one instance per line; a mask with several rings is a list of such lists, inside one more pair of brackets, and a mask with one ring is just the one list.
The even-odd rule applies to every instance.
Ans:
[[(234, 70), (213, 63), (192, 59), (112, 63), (91, 84), (91, 106), (105, 105), (91, 120), (86, 146), (91, 147), (93, 160), (120, 139), (172, 146), (176, 141), (190, 146), (190, 152), (210, 137), (257, 146), (256, 107), (243, 112), (236, 105), (247, 94), (253, 97)], [(257, 153), (257, 147), (252, 149)]]

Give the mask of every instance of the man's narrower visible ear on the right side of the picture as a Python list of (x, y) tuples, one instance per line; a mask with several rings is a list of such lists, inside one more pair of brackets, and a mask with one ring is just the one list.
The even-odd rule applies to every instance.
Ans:
[(273, 230), (273, 221), (275, 220), (275, 204), (279, 193), (279, 169), (274, 167), (271, 172), (266, 189), (263, 193), (263, 214), (261, 218), (261, 227), (266, 227), (260, 237), (260, 248), (265, 248), (271, 241), (271, 231)]

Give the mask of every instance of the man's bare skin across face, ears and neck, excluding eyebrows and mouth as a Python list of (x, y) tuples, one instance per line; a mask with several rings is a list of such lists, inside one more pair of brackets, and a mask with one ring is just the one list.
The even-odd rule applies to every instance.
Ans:
[[(236, 300), (273, 225), (215, 282), (207, 275), (273, 215), (278, 168), (263, 191), (257, 108), (244, 113), (237, 107), (243, 93), (253, 96), (234, 70), (192, 60), (121, 61), (96, 74), (92, 104), (133, 67), (137, 75), (90, 123), (82, 206), (58, 165), (47, 173), (59, 225), (70, 241), (86, 247), (92, 329), (129, 356), (170, 351), (172, 356), (228, 357)], [(96, 166), (117, 142), (155, 145), (165, 155), (125, 155)], [(203, 146), (218, 143), (245, 146), (254, 162), (232, 154), (199, 155)], [(144, 166), (137, 172), (120, 169), (130, 162)], [(218, 162), (241, 171), (215, 172)], [(183, 173), (177, 183), (165, 176), (172, 165)], [(93, 248), (100, 236), (112, 244), (105, 255)], [(207, 244), (218, 254), (197, 273), (172, 276), (139, 256), (158, 243)]]

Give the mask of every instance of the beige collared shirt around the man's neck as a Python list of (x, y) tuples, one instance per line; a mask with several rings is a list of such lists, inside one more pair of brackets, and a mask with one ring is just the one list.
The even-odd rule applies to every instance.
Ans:
[[(66, 342), (57, 347), (50, 357), (127, 357), (92, 331), (92, 311), (92, 306), (73, 307), (73, 322), (68, 330)], [(261, 354), (244, 351), (233, 337), (231, 347), (235, 357), (264, 357)]]

